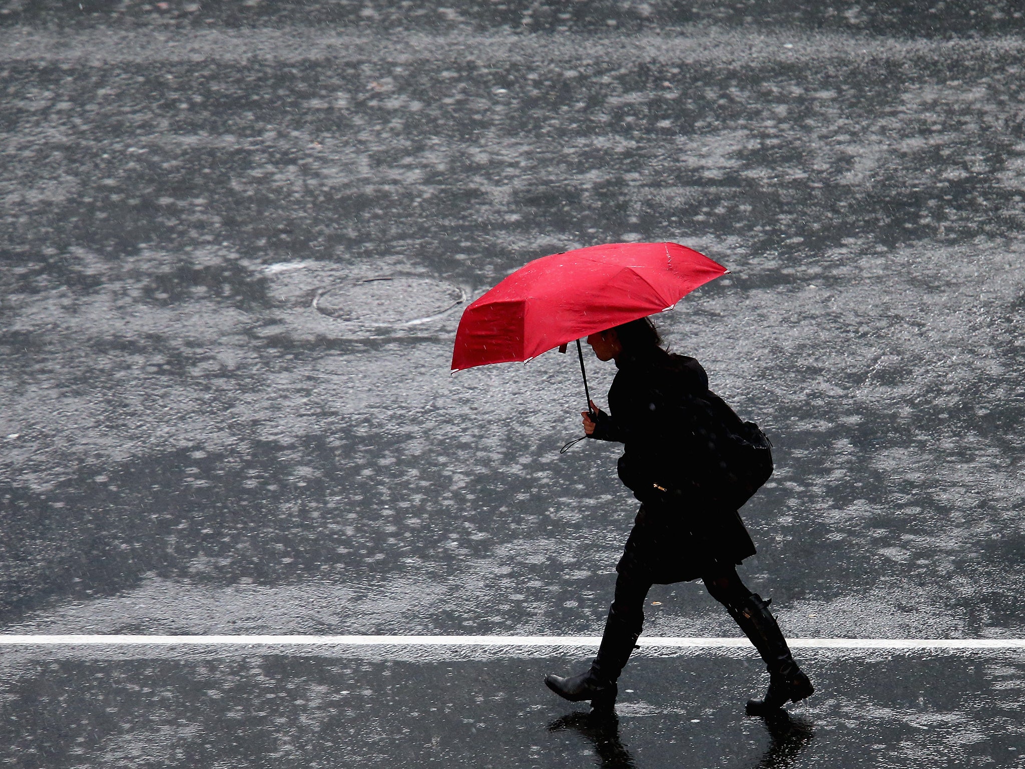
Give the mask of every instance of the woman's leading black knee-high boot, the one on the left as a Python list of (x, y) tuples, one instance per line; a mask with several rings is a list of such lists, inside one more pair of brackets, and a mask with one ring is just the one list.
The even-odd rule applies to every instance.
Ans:
[[(640, 614), (640, 621), (637, 614)], [(616, 681), (636, 648), (643, 621), (644, 614), (617, 610), (617, 605), (613, 603), (605, 621), (602, 645), (590, 669), (567, 678), (548, 674), (544, 677), (545, 686), (571, 702), (590, 700), (590, 712), (594, 715), (611, 714), (618, 693)]]

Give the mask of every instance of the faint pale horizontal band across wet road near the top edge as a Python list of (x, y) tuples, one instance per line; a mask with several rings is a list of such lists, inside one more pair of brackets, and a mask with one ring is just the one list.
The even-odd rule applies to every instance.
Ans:
[[(792, 41), (796, 47), (783, 47)], [(93, 66), (153, 65), (175, 62), (448, 62), (474, 58), (482, 63), (505, 60), (579, 62), (602, 56), (605, 62), (673, 62), (688, 65), (757, 66), (766, 62), (812, 60), (887, 62), (928, 58), (963, 60), (1021, 56), (1023, 41), (1013, 37), (985, 40), (866, 39), (844, 33), (803, 31), (750, 33), (716, 32), (665, 35), (640, 33), (612, 37), (582, 36), (566, 45), (561, 37), (458, 32), (345, 34), (332, 29), (193, 30), (161, 33), (138, 30), (60, 30), (27, 27), (0, 30), (0, 62), (74, 62)]]

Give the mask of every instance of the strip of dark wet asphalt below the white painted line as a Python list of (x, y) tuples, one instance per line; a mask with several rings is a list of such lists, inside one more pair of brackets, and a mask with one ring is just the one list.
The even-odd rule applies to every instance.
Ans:
[(596, 724), (579, 707), (518, 683), (546, 664), (574, 661), (344, 654), (40, 660), (5, 687), (12, 715), (4, 736), (17, 766), (1023, 763), (1020, 652), (814, 656), (809, 661), (830, 693), (769, 721), (744, 718), (734, 701), (753, 659), (634, 660), (613, 724)]

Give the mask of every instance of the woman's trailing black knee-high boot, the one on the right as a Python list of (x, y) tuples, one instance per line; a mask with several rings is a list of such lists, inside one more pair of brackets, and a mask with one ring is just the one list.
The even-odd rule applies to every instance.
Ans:
[(769, 611), (769, 603), (752, 593), (727, 607), (769, 669), (769, 689), (765, 696), (747, 700), (747, 713), (751, 716), (777, 711), (786, 702), (797, 702), (815, 691), (808, 676), (793, 661), (786, 639)]

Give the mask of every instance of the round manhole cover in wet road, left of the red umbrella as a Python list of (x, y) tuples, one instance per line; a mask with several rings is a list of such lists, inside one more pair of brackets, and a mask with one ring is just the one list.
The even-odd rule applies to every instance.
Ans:
[(374, 326), (412, 326), (444, 315), (465, 301), (451, 283), (391, 276), (345, 283), (314, 299), (317, 312), (342, 321)]

